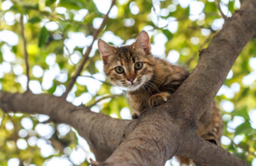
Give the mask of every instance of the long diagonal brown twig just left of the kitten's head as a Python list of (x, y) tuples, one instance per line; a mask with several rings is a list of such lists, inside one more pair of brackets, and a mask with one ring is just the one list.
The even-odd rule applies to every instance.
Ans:
[(83, 60), (82, 60), (82, 62), (80, 63), (80, 65), (79, 65), (79, 67), (78, 67), (78, 69), (77, 69), (75, 75), (72, 77), (70, 83), (68, 84), (66, 91), (62, 94), (62, 96), (61, 96), (62, 98), (66, 98), (66, 97), (67, 97), (67, 94), (71, 91), (73, 85), (75, 84), (75, 81), (76, 81), (77, 77), (78, 77), (78, 76), (80, 75), (80, 73), (82, 72), (83, 67), (84, 67), (84, 64), (85, 64), (86, 61), (88, 60), (89, 54), (91, 53), (92, 45), (93, 45), (94, 41), (97, 39), (97, 37), (98, 37), (100, 31), (101, 31), (101, 30), (103, 29), (103, 27), (106, 25), (109, 12), (110, 12), (110, 10), (112, 9), (112, 7), (114, 6), (115, 2), (116, 2), (116, 0), (112, 0), (111, 6), (110, 6), (110, 8), (109, 8), (107, 14), (104, 16), (103, 21), (102, 21), (102, 23), (101, 23), (99, 29), (97, 29), (97, 30), (94, 31), (92, 44), (91, 44), (89, 47), (87, 47), (87, 49), (86, 49), (86, 51), (85, 51), (85, 53), (84, 53)]

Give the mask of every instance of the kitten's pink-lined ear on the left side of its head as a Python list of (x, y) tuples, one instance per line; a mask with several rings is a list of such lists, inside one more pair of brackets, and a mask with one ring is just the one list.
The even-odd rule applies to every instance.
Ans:
[(98, 40), (98, 48), (100, 51), (101, 59), (104, 64), (108, 63), (108, 57), (111, 54), (115, 54), (115, 49), (102, 39)]

